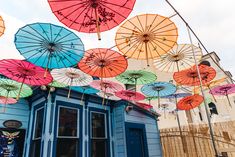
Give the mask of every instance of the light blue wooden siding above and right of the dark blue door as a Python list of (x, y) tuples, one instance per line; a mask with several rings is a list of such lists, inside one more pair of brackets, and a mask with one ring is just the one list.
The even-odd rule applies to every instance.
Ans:
[(125, 113), (125, 121), (145, 124), (149, 157), (161, 157), (160, 134), (156, 120), (139, 111), (131, 110)]

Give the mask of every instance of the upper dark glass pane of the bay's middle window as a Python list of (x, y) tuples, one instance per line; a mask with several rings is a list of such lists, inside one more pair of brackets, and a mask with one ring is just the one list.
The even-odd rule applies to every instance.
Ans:
[(61, 107), (59, 116), (58, 136), (77, 137), (78, 110)]

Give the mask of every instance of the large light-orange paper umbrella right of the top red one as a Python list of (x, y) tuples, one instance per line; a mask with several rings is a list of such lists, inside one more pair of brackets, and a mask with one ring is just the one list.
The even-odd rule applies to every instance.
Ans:
[(127, 20), (116, 33), (116, 45), (125, 56), (147, 60), (167, 53), (175, 44), (178, 31), (167, 17), (143, 14)]

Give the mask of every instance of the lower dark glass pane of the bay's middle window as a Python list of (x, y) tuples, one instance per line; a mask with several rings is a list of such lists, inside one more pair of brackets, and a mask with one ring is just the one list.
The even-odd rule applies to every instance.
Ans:
[(57, 139), (56, 157), (76, 157), (79, 154), (78, 140), (71, 138)]

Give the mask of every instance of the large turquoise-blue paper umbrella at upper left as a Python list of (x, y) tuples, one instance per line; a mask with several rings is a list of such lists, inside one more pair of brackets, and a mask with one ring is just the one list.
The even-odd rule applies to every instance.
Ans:
[(26, 25), (15, 34), (15, 45), (27, 61), (47, 69), (76, 65), (84, 55), (81, 39), (50, 23)]

